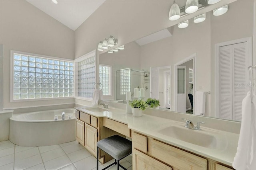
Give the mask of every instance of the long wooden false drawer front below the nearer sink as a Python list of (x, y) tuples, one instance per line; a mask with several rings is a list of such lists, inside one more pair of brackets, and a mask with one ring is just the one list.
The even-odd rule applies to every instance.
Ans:
[(152, 156), (179, 170), (207, 170), (207, 160), (156, 140), (151, 143)]

